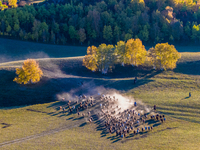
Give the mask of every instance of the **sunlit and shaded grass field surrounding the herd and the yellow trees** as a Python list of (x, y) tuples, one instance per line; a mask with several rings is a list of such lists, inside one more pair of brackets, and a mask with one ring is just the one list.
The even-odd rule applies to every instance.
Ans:
[[(12, 82), (15, 67), (23, 61), (1, 63), (0, 149), (199, 150), (200, 53), (181, 54), (173, 71), (118, 66), (106, 76), (86, 70), (82, 57), (39, 59), (44, 77), (32, 86)], [(133, 84), (136, 75), (138, 82)], [(79, 88), (80, 81), (89, 83), (90, 89), (104, 86), (148, 106), (156, 104), (167, 121), (156, 124), (152, 131), (131, 134), (123, 140), (115, 134), (103, 134), (98, 122), (89, 124), (76, 114), (58, 110), (65, 104), (55, 101), (55, 95)]]

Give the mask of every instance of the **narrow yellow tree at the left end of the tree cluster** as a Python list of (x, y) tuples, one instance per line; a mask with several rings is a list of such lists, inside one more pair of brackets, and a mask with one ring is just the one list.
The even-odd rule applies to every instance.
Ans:
[(97, 47), (89, 46), (87, 48), (87, 55), (83, 58), (83, 66), (94, 72), (98, 69), (97, 65)]

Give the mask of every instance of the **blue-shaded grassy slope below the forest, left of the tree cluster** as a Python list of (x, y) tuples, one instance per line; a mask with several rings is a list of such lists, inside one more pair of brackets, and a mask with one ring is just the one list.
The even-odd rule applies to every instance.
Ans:
[(60, 58), (83, 56), (87, 47), (41, 44), (0, 38), (0, 63), (27, 58)]

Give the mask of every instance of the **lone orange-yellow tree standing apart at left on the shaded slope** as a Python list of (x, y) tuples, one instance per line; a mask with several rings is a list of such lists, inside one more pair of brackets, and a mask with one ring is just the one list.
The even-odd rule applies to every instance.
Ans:
[(43, 72), (35, 60), (27, 59), (24, 61), (22, 68), (16, 69), (16, 74), (18, 77), (16, 77), (13, 81), (19, 84), (30, 84), (39, 82)]

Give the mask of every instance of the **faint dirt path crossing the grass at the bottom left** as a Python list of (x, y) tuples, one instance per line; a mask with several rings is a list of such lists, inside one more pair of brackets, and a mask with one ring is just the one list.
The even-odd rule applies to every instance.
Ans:
[(3, 146), (6, 146), (6, 145), (10, 145), (10, 144), (14, 144), (14, 143), (19, 143), (19, 142), (24, 142), (26, 140), (35, 139), (35, 138), (39, 138), (39, 137), (42, 137), (42, 136), (46, 136), (46, 135), (50, 135), (50, 134), (55, 134), (57, 132), (68, 130), (68, 129), (71, 129), (71, 128), (74, 128), (74, 127), (78, 127), (82, 123), (83, 122), (80, 123), (80, 121), (79, 121), (79, 123), (75, 124), (75, 125), (71, 125), (70, 124), (70, 125), (66, 125), (66, 126), (63, 126), (63, 127), (60, 127), (60, 128), (55, 128), (55, 129), (52, 129), (52, 130), (49, 130), (49, 131), (44, 131), (44, 132), (42, 132), (40, 134), (35, 134), (35, 135), (31, 135), (31, 136), (27, 136), (27, 137), (15, 139), (15, 140), (3, 142), (3, 143), (0, 143), (0, 148), (3, 147)]

